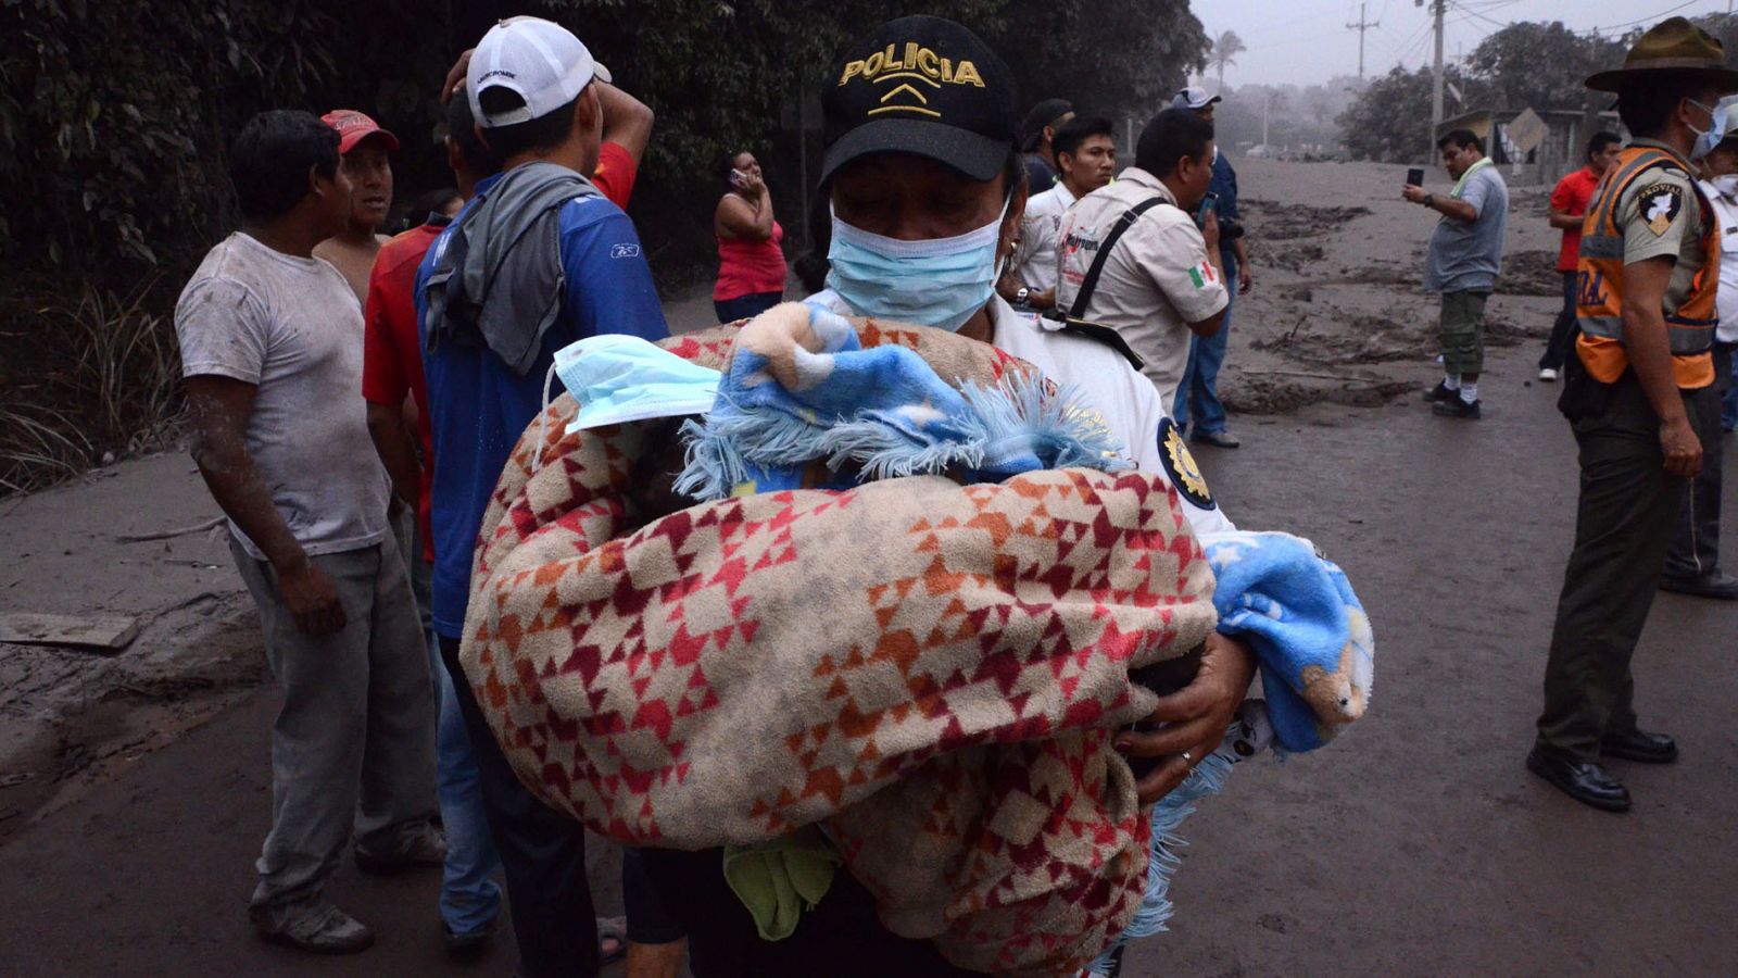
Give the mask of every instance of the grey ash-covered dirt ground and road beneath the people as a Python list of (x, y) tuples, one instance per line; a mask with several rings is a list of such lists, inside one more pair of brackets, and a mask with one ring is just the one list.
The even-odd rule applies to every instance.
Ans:
[[(1187, 823), (1173, 931), (1128, 975), (1735, 975), (1738, 607), (1662, 595), (1635, 673), (1670, 767), (1616, 766), (1635, 809), (1585, 809), (1521, 762), (1573, 533), (1573, 442), (1533, 379), (1556, 310), (1543, 190), (1516, 190), (1484, 421), (1434, 418), (1430, 216), (1401, 167), (1237, 160), (1257, 292), (1203, 449), (1229, 515), (1314, 539), (1378, 639), (1370, 717), (1319, 754), (1239, 767)], [(1441, 181), (1437, 174), (1437, 181)], [(678, 327), (709, 303), (671, 306)], [(1728, 459), (1728, 470), (1731, 459)], [(184, 454), (0, 501), (0, 609), (146, 620), (123, 653), (0, 644), (0, 975), (509, 975), (511, 941), (443, 959), (433, 875), (334, 896), (379, 931), (353, 959), (250, 934), (276, 708), (252, 609)], [(1728, 552), (1738, 546), (1728, 531)], [(594, 846), (601, 908), (615, 854)], [(827, 975), (817, 964), (817, 976)]]

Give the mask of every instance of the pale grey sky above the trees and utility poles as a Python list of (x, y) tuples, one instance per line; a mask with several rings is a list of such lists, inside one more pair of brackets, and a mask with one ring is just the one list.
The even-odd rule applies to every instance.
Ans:
[[(1237, 31), (1250, 50), (1225, 68), (1225, 85), (1312, 85), (1335, 75), (1357, 73), (1357, 0), (1194, 0), (1208, 37)], [(1510, 21), (1562, 21), (1571, 30), (1651, 24), (1670, 14), (1698, 16), (1729, 9), (1728, 0), (1449, 0), (1444, 16), (1443, 57), (1470, 54), (1486, 35)], [(1394, 64), (1429, 64), (1430, 7), (1413, 0), (1366, 0), (1370, 21), (1382, 26), (1364, 35), (1364, 75), (1383, 75)], [(1627, 26), (1618, 26), (1622, 33)], [(1738, 63), (1738, 57), (1733, 57)], [(1213, 73), (1208, 71), (1211, 78)]]

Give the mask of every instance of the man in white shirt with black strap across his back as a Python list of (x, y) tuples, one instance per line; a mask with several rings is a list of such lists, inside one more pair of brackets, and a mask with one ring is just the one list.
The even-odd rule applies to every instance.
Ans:
[[(1213, 336), (1229, 303), (1218, 221), (1211, 214), (1204, 228), (1194, 221), (1213, 179), (1213, 124), (1168, 108), (1140, 132), (1135, 165), (1078, 200), (1062, 219), (1057, 308), (1116, 329), (1166, 404), (1189, 365), (1189, 336)], [(1088, 287), (1107, 245), (1100, 275)]]

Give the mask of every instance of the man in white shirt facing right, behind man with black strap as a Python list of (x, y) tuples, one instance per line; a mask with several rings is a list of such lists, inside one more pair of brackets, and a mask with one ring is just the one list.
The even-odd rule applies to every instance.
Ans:
[(1116, 124), (1102, 115), (1074, 117), (1050, 141), (1062, 179), (1025, 202), (1020, 247), (1008, 271), (996, 284), (1001, 298), (1017, 308), (1048, 310), (1057, 305), (1057, 242), (1062, 216), (1076, 200), (1111, 183), (1116, 176)]

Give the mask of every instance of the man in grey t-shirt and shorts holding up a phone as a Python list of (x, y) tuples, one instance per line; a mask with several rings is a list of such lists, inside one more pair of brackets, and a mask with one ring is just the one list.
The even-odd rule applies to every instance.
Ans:
[(1484, 371), (1484, 301), (1503, 265), (1503, 226), (1509, 223), (1509, 184), (1484, 155), (1484, 143), (1469, 129), (1436, 141), (1443, 167), (1455, 178), (1446, 195), (1408, 184), (1401, 195), (1443, 216), (1430, 233), (1423, 287), (1443, 294), (1439, 320), (1443, 381), (1425, 392), (1432, 411), (1444, 418), (1477, 419), (1479, 372)]

